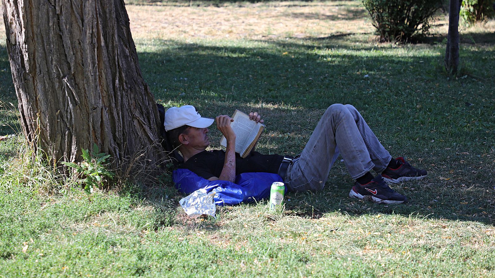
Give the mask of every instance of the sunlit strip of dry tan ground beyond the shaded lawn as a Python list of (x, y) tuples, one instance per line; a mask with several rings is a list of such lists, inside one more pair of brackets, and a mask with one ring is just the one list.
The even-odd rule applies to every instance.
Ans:
[(248, 4), (243, 7), (127, 5), (135, 38), (251, 39), (318, 38), (370, 33), (357, 1)]

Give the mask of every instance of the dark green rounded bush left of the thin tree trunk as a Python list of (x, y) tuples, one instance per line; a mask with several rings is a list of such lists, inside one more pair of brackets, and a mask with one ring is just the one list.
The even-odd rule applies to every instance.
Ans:
[(380, 42), (406, 42), (428, 33), (430, 21), (441, 7), (439, 0), (363, 0)]

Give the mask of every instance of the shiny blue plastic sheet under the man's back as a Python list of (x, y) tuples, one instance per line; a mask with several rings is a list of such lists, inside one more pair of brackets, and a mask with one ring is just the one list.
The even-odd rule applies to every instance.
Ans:
[(173, 180), (175, 188), (186, 195), (200, 188), (206, 189), (208, 193), (215, 192), (213, 199), (219, 206), (237, 205), (242, 202), (249, 203), (268, 198), (271, 185), (274, 182), (283, 182), (279, 175), (271, 173), (243, 173), (236, 176), (234, 183), (220, 180), (208, 181), (188, 169), (175, 170)]

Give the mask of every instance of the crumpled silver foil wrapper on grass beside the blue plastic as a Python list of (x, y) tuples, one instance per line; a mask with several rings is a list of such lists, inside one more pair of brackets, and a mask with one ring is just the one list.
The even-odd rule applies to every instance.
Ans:
[(203, 214), (211, 215), (216, 218), (215, 201), (213, 200), (214, 192), (206, 193), (204, 189), (198, 189), (179, 201), (182, 208), (189, 217), (199, 217)]

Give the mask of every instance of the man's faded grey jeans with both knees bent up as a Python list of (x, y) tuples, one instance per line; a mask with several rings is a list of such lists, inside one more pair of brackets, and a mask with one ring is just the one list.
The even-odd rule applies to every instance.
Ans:
[(285, 179), (288, 188), (323, 188), (339, 150), (353, 179), (371, 169), (384, 170), (392, 158), (352, 105), (333, 104), (323, 114), (300, 156), (289, 166)]

